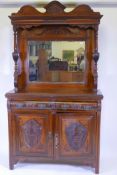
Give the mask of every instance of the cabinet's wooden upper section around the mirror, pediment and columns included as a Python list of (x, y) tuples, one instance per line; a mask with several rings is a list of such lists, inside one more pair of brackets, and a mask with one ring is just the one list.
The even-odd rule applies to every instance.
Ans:
[[(55, 10), (56, 9), (56, 10)], [(57, 1), (50, 2), (41, 13), (32, 6), (23, 6), (10, 16), (14, 29), (15, 91), (40, 92), (60, 88), (77, 90), (97, 88), (98, 25), (102, 15), (87, 5), (71, 12)], [(30, 83), (28, 81), (27, 47), (29, 40), (85, 41), (86, 69), (84, 83)]]

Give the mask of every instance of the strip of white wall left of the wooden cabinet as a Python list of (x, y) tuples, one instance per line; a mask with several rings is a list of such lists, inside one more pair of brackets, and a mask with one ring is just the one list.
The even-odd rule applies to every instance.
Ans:
[(8, 15), (15, 9), (0, 9), (0, 138), (2, 139), (0, 152), (6, 152), (7, 137), (7, 110), (5, 93), (13, 89), (13, 32)]

